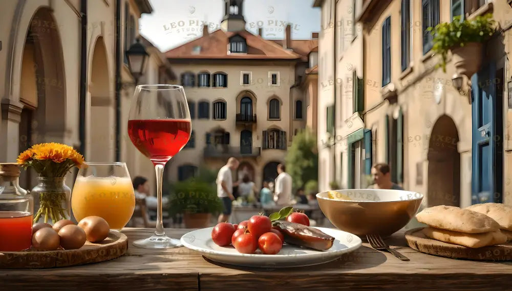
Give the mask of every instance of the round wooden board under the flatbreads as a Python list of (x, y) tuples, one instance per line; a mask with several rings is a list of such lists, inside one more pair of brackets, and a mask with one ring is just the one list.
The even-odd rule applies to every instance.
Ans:
[(512, 243), (482, 248), (467, 248), (458, 245), (444, 243), (426, 237), (421, 231), (423, 228), (415, 228), (406, 232), (406, 240), (409, 247), (425, 254), (478, 261), (510, 261), (512, 260)]

